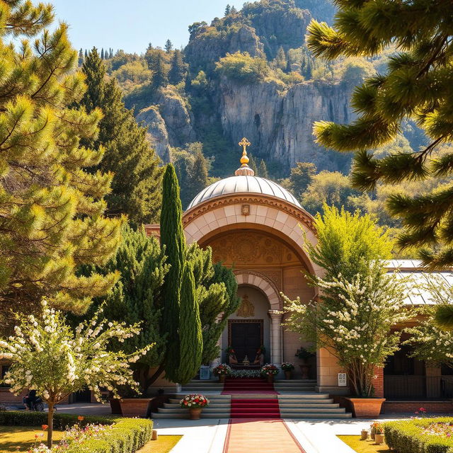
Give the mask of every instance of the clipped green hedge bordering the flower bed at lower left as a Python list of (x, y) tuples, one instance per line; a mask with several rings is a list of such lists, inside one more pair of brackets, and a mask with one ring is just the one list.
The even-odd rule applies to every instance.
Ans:
[[(69, 425), (101, 423), (115, 427), (103, 439), (90, 439), (74, 445), (68, 453), (133, 453), (151, 440), (153, 422), (144, 418), (119, 418), (110, 415), (84, 415), (79, 422), (78, 415), (56, 413), (54, 429), (64, 430)], [(0, 425), (39, 426), (47, 423), (47, 413), (28, 411), (0, 411)]]

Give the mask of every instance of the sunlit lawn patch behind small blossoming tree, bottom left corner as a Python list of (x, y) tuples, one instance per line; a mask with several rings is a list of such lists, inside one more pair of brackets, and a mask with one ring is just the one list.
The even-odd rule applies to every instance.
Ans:
[[(25, 451), (35, 442), (35, 434), (41, 435), (40, 426), (0, 426), (0, 453)], [(54, 440), (62, 438), (62, 431), (54, 431)], [(38, 437), (39, 441), (45, 442), (44, 437)]]

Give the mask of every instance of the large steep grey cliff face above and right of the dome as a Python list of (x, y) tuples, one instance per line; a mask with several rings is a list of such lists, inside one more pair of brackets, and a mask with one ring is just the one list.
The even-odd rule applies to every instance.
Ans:
[(349, 98), (350, 91), (341, 84), (304, 82), (287, 88), (275, 81), (241, 85), (222, 79), (219, 113), (224, 134), (247, 137), (254, 156), (285, 167), (307, 161), (338, 170), (338, 162), (314, 144), (312, 128), (319, 120), (350, 122)]

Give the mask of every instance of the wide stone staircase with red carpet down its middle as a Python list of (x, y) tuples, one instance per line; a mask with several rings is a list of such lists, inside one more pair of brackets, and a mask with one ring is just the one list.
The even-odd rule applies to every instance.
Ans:
[(351, 418), (351, 414), (334, 403), (328, 394), (316, 393), (315, 384), (315, 381), (302, 379), (277, 380), (274, 388), (279, 394), (241, 391), (241, 394), (231, 396), (221, 394), (223, 384), (217, 381), (194, 380), (184, 386), (180, 394), (164, 403), (152, 418), (188, 418), (187, 409), (180, 408), (179, 401), (186, 394), (195, 392), (210, 399), (210, 406), (203, 409), (201, 418)]

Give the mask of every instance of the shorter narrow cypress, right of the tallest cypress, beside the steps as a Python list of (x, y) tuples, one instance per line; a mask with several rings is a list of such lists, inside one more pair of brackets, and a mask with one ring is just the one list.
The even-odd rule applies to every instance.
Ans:
[(179, 309), (180, 363), (178, 382), (187, 384), (200, 369), (203, 338), (200, 309), (195, 297), (195, 282), (190, 262), (186, 261), (181, 282)]

